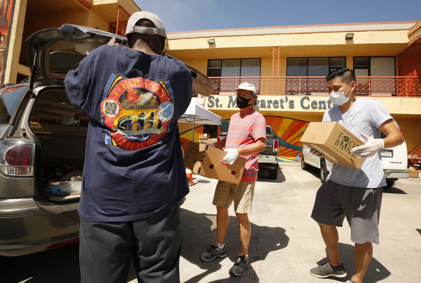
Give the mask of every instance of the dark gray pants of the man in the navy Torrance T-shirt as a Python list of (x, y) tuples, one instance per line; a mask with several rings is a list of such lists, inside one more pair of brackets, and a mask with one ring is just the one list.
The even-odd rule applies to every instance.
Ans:
[(138, 282), (180, 282), (180, 206), (128, 222), (80, 220), (81, 283), (125, 283), (133, 258)]

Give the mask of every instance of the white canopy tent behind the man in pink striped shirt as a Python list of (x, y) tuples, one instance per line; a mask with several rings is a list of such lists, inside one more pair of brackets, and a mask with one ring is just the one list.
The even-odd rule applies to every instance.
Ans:
[(192, 140), (194, 141), (194, 125), (205, 124), (205, 125), (221, 125), (221, 116), (210, 112), (204, 107), (196, 104), (194, 101), (190, 102), (186, 113), (178, 120), (180, 123), (193, 124)]

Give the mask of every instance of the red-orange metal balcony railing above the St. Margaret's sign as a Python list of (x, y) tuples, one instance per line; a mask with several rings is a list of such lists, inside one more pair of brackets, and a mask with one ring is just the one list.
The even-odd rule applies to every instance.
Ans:
[[(234, 92), (242, 82), (256, 86), (262, 95), (327, 95), (325, 77), (211, 77), (217, 84), (214, 93)], [(359, 96), (421, 97), (421, 77), (357, 77)]]

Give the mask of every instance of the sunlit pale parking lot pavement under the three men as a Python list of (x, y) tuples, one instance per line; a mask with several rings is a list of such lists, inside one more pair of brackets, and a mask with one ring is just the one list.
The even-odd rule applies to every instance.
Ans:
[[(334, 282), (309, 273), (326, 257), (317, 224), (310, 218), (320, 180), (317, 171), (281, 165), (276, 180), (261, 170), (249, 215), (252, 235), (251, 268), (242, 277), (230, 277), (238, 250), (238, 224), (230, 208), (228, 257), (202, 262), (199, 255), (215, 241), (216, 209), (212, 205), (216, 180), (194, 176), (197, 184), (182, 206), (183, 249), (181, 282)], [(385, 190), (380, 221), (381, 244), (374, 246), (365, 282), (421, 281), (421, 179), (402, 179)], [(420, 229), (417, 231), (417, 229)], [(339, 228), (340, 253), (353, 273), (353, 245), (345, 222)], [(0, 259), (0, 282), (78, 282), (77, 244), (34, 255)], [(128, 282), (136, 282), (133, 270)]]

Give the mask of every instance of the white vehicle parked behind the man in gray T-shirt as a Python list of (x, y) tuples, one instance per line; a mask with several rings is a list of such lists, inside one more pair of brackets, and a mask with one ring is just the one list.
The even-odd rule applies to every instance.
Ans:
[[(395, 121), (398, 128), (403, 131), (400, 125)], [(385, 138), (386, 135), (382, 132), (381, 138)], [(386, 177), (386, 188), (390, 188), (395, 184), (397, 179), (409, 178), (409, 172), (407, 171), (408, 159), (407, 159), (407, 148), (406, 142), (404, 141), (402, 145), (391, 149), (384, 149), (381, 151), (383, 170)], [(319, 158), (318, 156), (310, 153), (310, 148), (307, 146), (303, 147), (303, 156), (301, 158), (301, 168), (307, 170), (310, 166), (316, 167), (320, 172), (320, 179), (324, 181), (332, 168), (332, 163), (324, 158)]]

